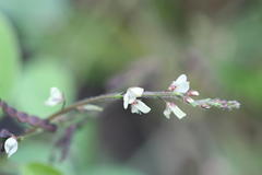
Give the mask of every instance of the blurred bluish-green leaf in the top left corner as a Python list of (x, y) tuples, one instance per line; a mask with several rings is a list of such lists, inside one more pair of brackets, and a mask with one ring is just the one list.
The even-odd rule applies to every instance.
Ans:
[(69, 0), (11, 0), (0, 1), (0, 10), (16, 24), (23, 36), (23, 46), (32, 49), (38, 47), (45, 33), (62, 25), (64, 14), (70, 11), (69, 4)]

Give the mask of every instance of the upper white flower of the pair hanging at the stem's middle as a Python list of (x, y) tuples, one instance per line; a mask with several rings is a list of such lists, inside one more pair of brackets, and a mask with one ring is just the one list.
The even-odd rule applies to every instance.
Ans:
[(144, 89), (142, 88), (129, 88), (123, 95), (123, 108), (127, 109), (129, 104), (134, 103), (136, 97), (141, 97), (144, 92)]

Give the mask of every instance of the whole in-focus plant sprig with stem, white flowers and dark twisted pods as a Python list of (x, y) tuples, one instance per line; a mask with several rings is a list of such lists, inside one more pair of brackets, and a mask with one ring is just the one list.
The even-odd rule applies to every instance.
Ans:
[[(90, 110), (102, 112), (103, 108), (94, 105), (93, 103), (98, 103), (106, 100), (122, 100), (124, 109), (128, 109), (130, 106), (131, 113), (141, 115), (151, 112), (151, 107), (142, 102), (143, 98), (162, 100), (165, 102), (165, 109), (163, 114), (168, 119), (172, 114), (179, 119), (182, 119), (187, 116), (187, 114), (177, 106), (175, 101), (181, 101), (192, 107), (201, 107), (205, 109), (209, 109), (211, 107), (217, 107), (222, 109), (234, 109), (240, 107), (240, 104), (237, 101), (225, 101), (219, 98), (193, 100), (194, 96), (199, 96), (199, 92), (190, 90), (190, 83), (187, 80), (187, 75), (181, 74), (168, 86), (166, 91), (151, 92), (144, 91), (142, 88), (133, 86), (129, 88), (124, 92), (87, 97), (68, 106), (66, 106), (66, 98), (63, 93), (60, 92), (60, 90), (57, 88), (51, 88), (50, 96), (47, 98), (45, 104), (48, 106), (56, 106), (59, 104), (63, 105), (59, 112), (48, 116), (46, 119), (19, 112), (15, 108), (9, 106), (4, 101), (0, 100), (0, 107), (9, 117), (16, 119), (19, 122), (25, 122), (29, 126), (29, 128), (27, 128), (25, 132), (20, 136), (15, 136), (7, 129), (0, 130), (0, 147), (9, 158), (17, 151), (19, 141), (22, 141), (26, 137), (39, 133), (41, 131), (56, 132), (58, 127), (62, 127), (60, 124), (67, 122), (69, 120), (69, 118), (67, 118), (67, 114), (72, 110), (78, 110), (81, 113), (87, 113)], [(68, 128), (66, 128), (64, 136), (56, 143), (56, 145), (61, 147), (62, 149), (63, 155), (61, 159), (64, 159), (66, 154), (69, 151), (69, 144), (73, 132), (84, 124), (84, 120), (80, 120), (79, 122), (71, 124)]]

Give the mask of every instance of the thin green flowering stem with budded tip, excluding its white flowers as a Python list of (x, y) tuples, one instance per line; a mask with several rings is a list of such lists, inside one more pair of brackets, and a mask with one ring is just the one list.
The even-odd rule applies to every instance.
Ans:
[[(144, 98), (162, 98), (162, 100), (183, 100), (186, 95), (180, 94), (180, 93), (175, 93), (175, 92), (169, 92), (169, 91), (162, 91), (162, 92), (150, 92), (146, 91), (142, 94), (141, 97)], [(81, 106), (91, 104), (91, 103), (96, 103), (100, 101), (107, 101), (107, 100), (121, 100), (123, 97), (123, 93), (110, 93), (110, 94), (104, 94), (104, 95), (98, 95), (94, 97), (87, 97), (85, 100), (79, 101), (72, 105), (69, 105), (61, 110), (50, 115), (47, 117), (48, 121), (55, 121), (56, 118), (60, 117), (61, 115), (68, 114), (72, 110), (76, 110)], [(236, 101), (222, 101), (218, 98), (211, 100), (211, 98), (205, 98), (205, 100), (199, 100), (194, 101), (193, 103), (190, 104), (191, 106), (215, 106), (218, 108), (239, 108), (239, 103)], [(41, 132), (43, 129), (38, 127), (34, 127), (29, 130), (27, 130), (24, 135), (17, 137), (20, 140), (24, 139), (25, 137), (32, 136), (34, 133)]]

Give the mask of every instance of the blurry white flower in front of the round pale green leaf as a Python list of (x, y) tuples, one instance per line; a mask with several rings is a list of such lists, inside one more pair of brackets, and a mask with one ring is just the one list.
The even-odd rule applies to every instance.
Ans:
[(47, 106), (56, 106), (60, 103), (64, 102), (63, 94), (58, 88), (51, 88), (50, 89), (50, 96), (45, 102)]

